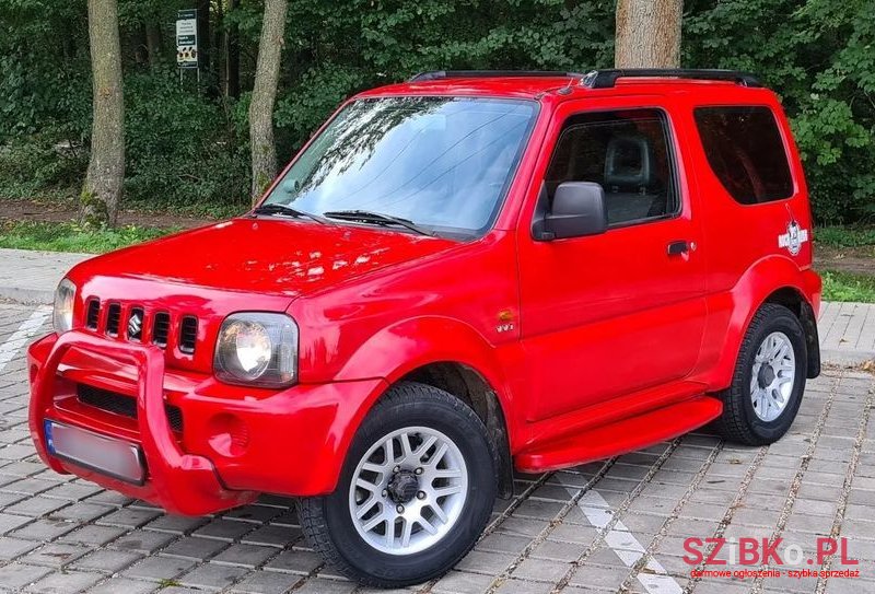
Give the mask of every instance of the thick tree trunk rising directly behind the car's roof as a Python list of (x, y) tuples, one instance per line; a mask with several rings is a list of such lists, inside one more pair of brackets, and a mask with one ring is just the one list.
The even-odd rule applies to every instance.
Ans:
[(617, 0), (617, 68), (679, 68), (684, 0)]

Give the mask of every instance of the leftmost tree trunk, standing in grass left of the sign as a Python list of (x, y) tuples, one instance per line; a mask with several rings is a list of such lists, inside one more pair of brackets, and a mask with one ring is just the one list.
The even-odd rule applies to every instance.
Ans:
[(93, 123), (81, 217), (85, 224), (113, 226), (125, 178), (125, 104), (116, 0), (89, 0), (89, 39)]

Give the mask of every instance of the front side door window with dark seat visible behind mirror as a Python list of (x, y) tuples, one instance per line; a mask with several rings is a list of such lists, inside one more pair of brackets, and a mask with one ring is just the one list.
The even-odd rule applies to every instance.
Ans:
[(547, 195), (563, 182), (605, 189), (608, 224), (620, 226), (679, 212), (664, 115), (656, 109), (570, 117), (545, 176)]

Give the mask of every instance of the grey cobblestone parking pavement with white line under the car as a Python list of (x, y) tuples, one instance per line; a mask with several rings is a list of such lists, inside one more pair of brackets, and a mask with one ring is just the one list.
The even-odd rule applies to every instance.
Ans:
[[(24, 346), (47, 308), (0, 305), (0, 590), (137, 594), (359, 591), (302, 539), (289, 502), (272, 497), (211, 517), (164, 514), (59, 476), (27, 432)], [(520, 477), (475, 550), (418, 592), (875, 592), (875, 378), (826, 370), (791, 432), (770, 447), (708, 433), (568, 471)], [(691, 578), (687, 537), (782, 537), (797, 569), (821, 569), (817, 536), (848, 538), (822, 569), (861, 578)], [(790, 557), (788, 551), (788, 557)], [(730, 559), (726, 548), (719, 555)], [(812, 559), (808, 564), (805, 560)], [(758, 564), (746, 569), (759, 569)], [(785, 566), (784, 570), (788, 569)]]

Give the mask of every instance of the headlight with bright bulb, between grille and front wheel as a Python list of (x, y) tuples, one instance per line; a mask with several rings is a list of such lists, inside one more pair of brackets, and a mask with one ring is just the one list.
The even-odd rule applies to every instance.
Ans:
[(293, 384), (298, 380), (298, 325), (285, 314), (231, 314), (219, 330), (213, 368), (215, 376), (230, 384)]

